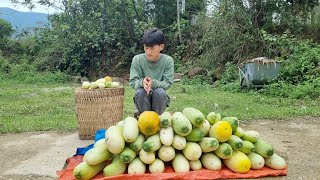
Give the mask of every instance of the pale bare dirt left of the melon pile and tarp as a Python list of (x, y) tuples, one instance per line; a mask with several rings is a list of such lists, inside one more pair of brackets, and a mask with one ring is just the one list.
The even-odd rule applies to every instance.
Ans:
[(0, 179), (57, 179), (56, 170), (92, 141), (78, 139), (77, 132), (32, 132), (0, 135)]

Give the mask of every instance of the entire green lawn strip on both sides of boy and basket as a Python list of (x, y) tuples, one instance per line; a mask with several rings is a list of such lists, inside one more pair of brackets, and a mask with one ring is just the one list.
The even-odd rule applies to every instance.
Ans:
[[(0, 133), (76, 130), (74, 90), (78, 86), (80, 84), (46, 81), (27, 83), (1, 78)], [(192, 106), (204, 114), (214, 111), (244, 121), (320, 116), (319, 99), (306, 101), (274, 98), (252, 92), (231, 93), (210, 86), (179, 83), (174, 84), (168, 93), (171, 104), (166, 111), (170, 112)], [(133, 115), (133, 95), (133, 89), (125, 86), (125, 117)]]

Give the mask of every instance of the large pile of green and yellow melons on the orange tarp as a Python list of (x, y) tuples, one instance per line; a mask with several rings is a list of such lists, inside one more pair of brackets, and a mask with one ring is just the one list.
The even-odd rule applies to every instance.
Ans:
[(236, 173), (287, 167), (270, 142), (257, 131), (242, 129), (236, 117), (214, 112), (205, 116), (187, 107), (160, 116), (145, 111), (138, 119), (127, 117), (109, 127), (73, 174), (76, 179), (91, 179), (100, 172), (104, 176), (162, 173), (168, 165), (177, 173), (219, 171), (223, 164)]

